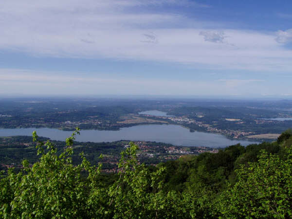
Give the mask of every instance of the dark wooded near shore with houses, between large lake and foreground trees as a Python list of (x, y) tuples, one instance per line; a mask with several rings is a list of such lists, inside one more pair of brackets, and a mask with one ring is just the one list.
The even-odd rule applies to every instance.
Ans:
[[(47, 141), (49, 138), (39, 137), (40, 141)], [(64, 141), (51, 141), (57, 149), (57, 155), (62, 152)], [(82, 159), (78, 155), (83, 152), (84, 156), (91, 164), (102, 162), (103, 172), (115, 172), (117, 163), (120, 160), (120, 153), (129, 144), (128, 140), (116, 142), (74, 142), (72, 162), (74, 165), (80, 164)], [(199, 154), (202, 151), (216, 151), (211, 147), (196, 146), (173, 146), (171, 144), (158, 142), (138, 141), (141, 146), (137, 151), (137, 159), (140, 163), (159, 164), (167, 160), (176, 160), (184, 154)], [(22, 161), (26, 159), (30, 164), (38, 161), (40, 155), (36, 153), (36, 142), (31, 136), (10, 136), (0, 137), (0, 170), (7, 170), (7, 167), (15, 167), (17, 171), (22, 167)], [(171, 147), (171, 152), (168, 150)], [(100, 154), (104, 155), (101, 160)]]

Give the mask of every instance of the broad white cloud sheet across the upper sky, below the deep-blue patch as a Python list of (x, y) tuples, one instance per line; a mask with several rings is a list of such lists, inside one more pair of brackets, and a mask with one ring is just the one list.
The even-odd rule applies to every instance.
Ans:
[[(2, 0), (0, 49), (54, 57), (166, 61), (208, 69), (292, 71), (292, 51), (281, 47), (274, 33), (206, 29), (204, 21), (159, 12), (166, 4), (208, 10), (208, 5), (189, 0)], [(158, 8), (142, 10), (149, 5)], [(288, 42), (289, 36), (289, 30), (278, 32), (277, 41)]]

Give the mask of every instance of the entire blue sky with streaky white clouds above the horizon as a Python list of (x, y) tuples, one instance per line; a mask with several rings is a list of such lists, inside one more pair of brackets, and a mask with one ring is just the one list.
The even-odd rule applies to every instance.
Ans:
[(292, 98), (290, 0), (1, 0), (0, 95)]

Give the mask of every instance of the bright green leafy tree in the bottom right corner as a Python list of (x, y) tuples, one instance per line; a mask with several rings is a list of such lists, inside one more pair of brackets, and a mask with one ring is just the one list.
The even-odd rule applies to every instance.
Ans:
[(237, 183), (218, 200), (222, 218), (291, 218), (292, 149), (285, 158), (262, 151), (258, 162), (236, 170)]

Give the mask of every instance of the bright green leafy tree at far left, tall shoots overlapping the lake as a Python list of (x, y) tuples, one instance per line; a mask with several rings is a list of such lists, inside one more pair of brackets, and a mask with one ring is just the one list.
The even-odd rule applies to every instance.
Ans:
[[(76, 134), (79, 134), (78, 128), (66, 139), (64, 152), (59, 156), (50, 141), (38, 142), (37, 154), (42, 155), (38, 162), (29, 165), (24, 160), (23, 171), (18, 174), (13, 169), (9, 170), (8, 176), (0, 181), (1, 217), (84, 218), (102, 215), (106, 193), (95, 180), (101, 165), (91, 166), (82, 154), (82, 163), (72, 164)], [(37, 137), (34, 132), (34, 141)], [(88, 172), (86, 179), (81, 177), (82, 171)], [(94, 212), (90, 208), (93, 200)]]

